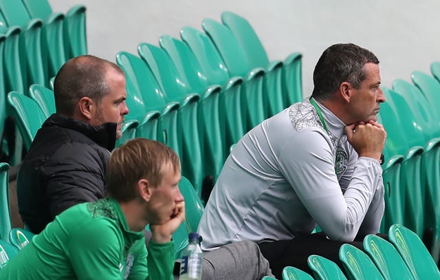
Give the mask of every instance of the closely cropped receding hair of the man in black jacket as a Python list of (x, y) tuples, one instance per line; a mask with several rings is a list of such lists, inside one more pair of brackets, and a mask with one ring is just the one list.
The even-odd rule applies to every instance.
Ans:
[(76, 104), (83, 97), (99, 104), (111, 90), (107, 83), (109, 69), (125, 76), (118, 65), (96, 56), (77, 56), (67, 61), (54, 81), (56, 112), (72, 116)]

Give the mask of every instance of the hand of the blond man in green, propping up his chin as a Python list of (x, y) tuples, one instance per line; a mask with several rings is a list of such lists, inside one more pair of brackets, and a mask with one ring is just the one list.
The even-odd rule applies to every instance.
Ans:
[(176, 204), (173, 215), (164, 224), (150, 224), (153, 241), (156, 243), (165, 243), (171, 241), (173, 233), (179, 228), (185, 220), (185, 202)]

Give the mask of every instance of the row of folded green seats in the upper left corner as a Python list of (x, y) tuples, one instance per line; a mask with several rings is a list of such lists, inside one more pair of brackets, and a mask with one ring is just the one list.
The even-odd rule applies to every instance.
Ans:
[(21, 138), (12, 143), (13, 123), (5, 130), (11, 114), (6, 94), (49, 85), (68, 58), (86, 53), (85, 6), (62, 14), (53, 12), (47, 0), (0, 1), (0, 65), (5, 70), (0, 75), (0, 150), (11, 164), (21, 161)]

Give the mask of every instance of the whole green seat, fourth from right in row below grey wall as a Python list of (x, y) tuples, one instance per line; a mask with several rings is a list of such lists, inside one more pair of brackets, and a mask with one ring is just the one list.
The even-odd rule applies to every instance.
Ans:
[(186, 43), (168, 35), (162, 35), (159, 43), (170, 56), (177, 72), (188, 83), (190, 91), (200, 95), (197, 122), (203, 151), (203, 173), (212, 175), (216, 180), (225, 158), (219, 120), (219, 98), (222, 89), (219, 85), (208, 84), (206, 74)]

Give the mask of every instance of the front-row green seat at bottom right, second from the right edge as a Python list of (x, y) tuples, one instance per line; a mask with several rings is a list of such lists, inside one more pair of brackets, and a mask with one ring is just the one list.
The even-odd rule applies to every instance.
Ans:
[(364, 249), (373, 259), (386, 280), (414, 279), (408, 266), (400, 257), (393, 244), (377, 235), (366, 235)]

